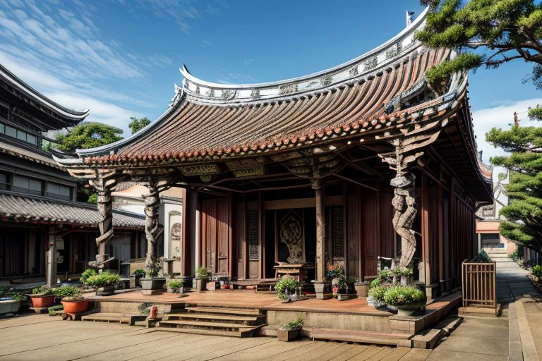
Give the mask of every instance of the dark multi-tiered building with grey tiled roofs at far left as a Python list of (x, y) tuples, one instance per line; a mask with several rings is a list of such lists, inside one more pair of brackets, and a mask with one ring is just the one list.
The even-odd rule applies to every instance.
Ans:
[[(0, 65), (0, 279), (37, 281), (47, 273), (56, 283), (95, 259), (97, 207), (76, 202), (78, 180), (42, 150), (44, 140), (54, 142), (44, 134), (76, 126), (88, 114), (47, 99)], [(144, 238), (143, 216), (115, 211), (113, 224), (118, 231), (108, 254), (116, 243)]]

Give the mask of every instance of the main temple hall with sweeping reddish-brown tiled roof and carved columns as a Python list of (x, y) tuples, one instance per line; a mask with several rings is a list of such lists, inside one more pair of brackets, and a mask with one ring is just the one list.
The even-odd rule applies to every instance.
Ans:
[(294, 274), (325, 298), (328, 264), (368, 280), (391, 258), (414, 270), (428, 298), (458, 288), (492, 183), (476, 152), (467, 74), (426, 80), (456, 54), (414, 39), (425, 20), (300, 78), (224, 85), (183, 66), (156, 121), (56, 157), (98, 191), (101, 260), (116, 234), (106, 200), (119, 182), (144, 181), (147, 259), (157, 255), (160, 192), (186, 190), (181, 234), (164, 245), (182, 276), (198, 266), (255, 283)]

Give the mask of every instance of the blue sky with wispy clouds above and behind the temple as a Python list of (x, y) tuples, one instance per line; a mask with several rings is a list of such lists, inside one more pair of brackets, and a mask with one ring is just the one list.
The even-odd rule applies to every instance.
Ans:
[[(215, 82), (264, 82), (320, 71), (397, 34), (418, 0), (0, 0), (0, 63), (88, 120), (129, 135), (131, 116), (157, 118), (173, 97), (178, 68)], [(522, 80), (522, 61), (471, 76), (479, 147), (491, 126), (542, 103)]]

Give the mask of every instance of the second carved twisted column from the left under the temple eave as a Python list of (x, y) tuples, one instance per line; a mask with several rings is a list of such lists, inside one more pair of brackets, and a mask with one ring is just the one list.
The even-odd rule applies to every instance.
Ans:
[(157, 183), (150, 180), (147, 185), (149, 193), (145, 195), (145, 237), (147, 238), (147, 258), (145, 268), (152, 268), (157, 256), (157, 238), (159, 235), (160, 198)]

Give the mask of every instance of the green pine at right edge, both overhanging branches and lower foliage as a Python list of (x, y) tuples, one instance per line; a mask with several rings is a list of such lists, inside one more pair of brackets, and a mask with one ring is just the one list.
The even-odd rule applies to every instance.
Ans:
[[(459, 54), (430, 68), (428, 82), (438, 86), (457, 71), (480, 66), (498, 68), (508, 61), (533, 64), (529, 78), (542, 90), (542, 4), (534, 0), (421, 0), (430, 8), (426, 27), (416, 39), (431, 48), (457, 49)], [(485, 54), (487, 53), (487, 54)], [(529, 109), (529, 118), (542, 121), (542, 106)], [(494, 157), (496, 166), (510, 169), (509, 205), (500, 232), (542, 253), (542, 128), (493, 128), (486, 140), (511, 152)]]

